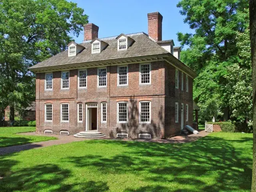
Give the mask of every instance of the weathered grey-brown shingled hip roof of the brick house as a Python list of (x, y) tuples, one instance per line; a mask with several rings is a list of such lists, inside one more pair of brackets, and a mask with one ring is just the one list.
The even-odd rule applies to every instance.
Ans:
[(38, 72), (42, 71), (46, 68), (50, 70), (57, 70), (58, 67), (65, 66), (77, 66), (78, 64), (86, 64), (90, 62), (108, 62), (112, 60), (125, 60), (129, 58), (140, 58), (144, 56), (168, 56), (172, 60), (175, 60), (174, 63), (178, 62), (178, 66), (182, 65), (183, 68), (186, 68), (189, 73), (194, 73), (192, 76), (196, 76), (196, 73), (192, 71), (188, 66), (180, 62), (180, 60), (176, 59), (170, 52), (166, 51), (157, 42), (151, 40), (147, 34), (144, 32), (135, 33), (135, 34), (127, 34), (126, 36), (132, 38), (134, 42), (128, 47), (127, 50), (117, 50), (117, 40), (116, 37), (109, 38), (100, 38), (100, 40), (106, 42), (108, 46), (100, 53), (91, 53), (91, 40), (85, 41), (79, 45), (85, 47), (80, 53), (76, 56), (68, 56), (68, 50), (60, 52), (47, 60), (44, 60), (29, 69), (31, 71)]

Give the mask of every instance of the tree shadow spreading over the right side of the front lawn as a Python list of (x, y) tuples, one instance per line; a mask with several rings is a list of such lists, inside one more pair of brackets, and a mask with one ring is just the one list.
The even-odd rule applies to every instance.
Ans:
[[(252, 138), (242, 140), (248, 142), (246, 145), (252, 146)], [(246, 157), (242, 154), (242, 147), (234, 148), (236, 140), (227, 141), (208, 136), (189, 144), (106, 140), (89, 142), (123, 145), (124, 151), (111, 158), (87, 155), (68, 157), (62, 161), (71, 162), (77, 167), (95, 168), (99, 174), (140, 175), (141, 180), (152, 185), (126, 191), (250, 190), (252, 155)], [(163, 185), (155, 186), (159, 182)], [(169, 182), (177, 183), (180, 188), (165, 188)], [(159, 190), (154, 189), (155, 187)]]

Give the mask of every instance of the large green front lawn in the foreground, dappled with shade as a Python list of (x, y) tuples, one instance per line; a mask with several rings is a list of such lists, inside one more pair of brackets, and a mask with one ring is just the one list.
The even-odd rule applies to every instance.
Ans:
[(0, 156), (0, 191), (250, 191), (252, 134), (196, 142), (87, 140)]

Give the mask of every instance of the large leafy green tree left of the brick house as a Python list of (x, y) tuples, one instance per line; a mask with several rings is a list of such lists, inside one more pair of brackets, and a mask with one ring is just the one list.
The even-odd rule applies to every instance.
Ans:
[(0, 2), (0, 84), (11, 121), (15, 102), (34, 99), (34, 75), (28, 67), (65, 50), (73, 40), (70, 34), (78, 36), (87, 22), (84, 10), (66, 0)]

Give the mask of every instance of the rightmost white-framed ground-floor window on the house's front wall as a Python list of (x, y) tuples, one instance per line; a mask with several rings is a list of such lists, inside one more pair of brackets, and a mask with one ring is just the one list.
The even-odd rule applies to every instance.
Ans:
[(140, 123), (150, 123), (151, 122), (151, 102), (150, 101), (141, 101), (140, 102), (140, 114), (139, 122)]

